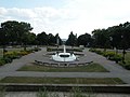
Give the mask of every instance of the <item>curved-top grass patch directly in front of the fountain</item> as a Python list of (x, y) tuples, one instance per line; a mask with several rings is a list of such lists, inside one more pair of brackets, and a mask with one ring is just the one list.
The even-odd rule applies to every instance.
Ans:
[(25, 65), (17, 71), (41, 71), (41, 72), (108, 72), (99, 64), (90, 64), (80, 67), (46, 67), (38, 65)]

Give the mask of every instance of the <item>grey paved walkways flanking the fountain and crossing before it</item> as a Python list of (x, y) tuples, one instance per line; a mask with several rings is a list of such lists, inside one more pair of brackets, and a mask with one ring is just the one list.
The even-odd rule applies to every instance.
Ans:
[(104, 68), (110, 72), (36, 72), (36, 71), (16, 71), (24, 65), (32, 63), (37, 59), (43, 61), (50, 61), (50, 57), (46, 56), (46, 47), (42, 51), (31, 53), (23, 56), (20, 59), (14, 59), (13, 63), (6, 64), (0, 67), (0, 78), (5, 77), (58, 77), (58, 78), (120, 78), (123, 82), (130, 84), (130, 71), (123, 69), (114, 61), (107, 60), (105, 57), (91, 53), (88, 48), (83, 50), (84, 56), (80, 58), (80, 61), (93, 60), (101, 64)]

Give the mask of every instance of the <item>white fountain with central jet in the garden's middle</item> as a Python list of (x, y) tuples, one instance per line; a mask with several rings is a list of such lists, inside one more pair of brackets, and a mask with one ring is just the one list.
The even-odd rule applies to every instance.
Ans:
[(52, 59), (55, 61), (75, 61), (76, 56), (73, 53), (67, 53), (66, 47), (64, 45), (64, 52), (52, 55)]

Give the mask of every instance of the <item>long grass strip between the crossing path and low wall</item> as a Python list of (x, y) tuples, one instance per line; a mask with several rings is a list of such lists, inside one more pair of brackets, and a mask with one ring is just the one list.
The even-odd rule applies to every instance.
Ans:
[(39, 83), (39, 84), (125, 84), (118, 78), (31, 78), (6, 77), (0, 83)]

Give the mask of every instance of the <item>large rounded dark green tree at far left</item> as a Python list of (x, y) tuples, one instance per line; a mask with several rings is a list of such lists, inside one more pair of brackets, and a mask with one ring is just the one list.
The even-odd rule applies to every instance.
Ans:
[[(29, 31), (32, 30), (32, 27), (28, 23), (8, 20), (1, 23), (1, 28), (4, 30), (5, 34), (10, 39), (11, 44), (27, 44)], [(26, 46), (25, 46), (26, 50)]]

